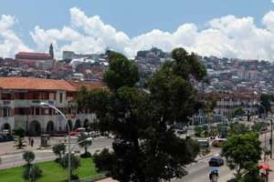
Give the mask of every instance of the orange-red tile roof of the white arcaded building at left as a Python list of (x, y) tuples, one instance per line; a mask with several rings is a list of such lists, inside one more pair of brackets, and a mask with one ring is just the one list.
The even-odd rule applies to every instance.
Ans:
[(34, 77), (0, 77), (0, 89), (77, 91), (77, 87), (72, 86), (66, 80)]

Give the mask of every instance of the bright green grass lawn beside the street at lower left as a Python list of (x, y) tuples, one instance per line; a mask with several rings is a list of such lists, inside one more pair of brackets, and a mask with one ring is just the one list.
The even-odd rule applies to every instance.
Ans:
[[(43, 177), (38, 182), (61, 182), (67, 179), (68, 172), (54, 161), (38, 163), (43, 170)], [(0, 170), (0, 181), (5, 182), (25, 182), (23, 179), (23, 167), (14, 167)], [(99, 175), (96, 172), (95, 164), (91, 158), (81, 158), (81, 166), (78, 170), (80, 178), (95, 177)]]

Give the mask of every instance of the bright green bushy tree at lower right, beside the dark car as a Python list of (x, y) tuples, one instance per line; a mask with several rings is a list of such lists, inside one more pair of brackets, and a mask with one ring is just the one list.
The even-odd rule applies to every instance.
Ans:
[(248, 132), (230, 136), (222, 148), (222, 156), (227, 158), (227, 166), (236, 170), (237, 179), (258, 165), (261, 157), (258, 133)]

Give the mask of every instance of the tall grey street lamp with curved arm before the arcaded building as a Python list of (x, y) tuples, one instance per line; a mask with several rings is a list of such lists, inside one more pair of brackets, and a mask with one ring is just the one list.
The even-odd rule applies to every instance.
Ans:
[[(67, 117), (55, 106), (49, 105), (45, 102), (40, 102), (40, 106), (45, 106), (45, 107), (50, 107), (53, 108), (54, 110), (56, 110), (58, 112), (58, 114), (60, 114), (66, 121), (66, 126), (68, 127), (68, 182), (70, 182), (70, 174), (71, 174), (71, 170), (70, 170), (70, 154), (71, 154), (71, 149), (70, 149), (70, 128), (68, 125), (68, 119)], [(81, 141), (82, 142), (82, 141)]]

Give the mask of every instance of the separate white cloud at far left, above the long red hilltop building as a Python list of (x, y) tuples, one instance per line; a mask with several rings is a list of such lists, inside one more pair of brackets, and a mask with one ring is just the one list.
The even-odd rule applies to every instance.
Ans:
[(11, 15), (1, 15), (0, 18), (0, 56), (13, 57), (19, 51), (29, 51), (23, 41), (14, 32), (16, 18)]

